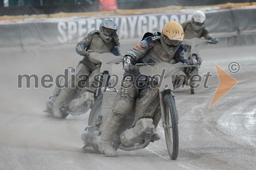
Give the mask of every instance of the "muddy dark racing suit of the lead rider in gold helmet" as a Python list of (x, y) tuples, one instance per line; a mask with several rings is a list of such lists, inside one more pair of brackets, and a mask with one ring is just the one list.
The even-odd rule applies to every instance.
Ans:
[[(176, 48), (176, 52), (171, 56), (165, 53), (160, 41), (160, 33), (154, 33), (153, 36), (146, 37), (139, 44), (126, 52), (123, 58), (125, 73), (123, 83), (120, 87), (121, 89), (119, 90), (120, 98), (103, 127), (99, 143), (101, 152), (104, 152), (107, 156), (117, 155), (116, 151), (108, 152), (110, 149), (110, 142), (114, 139), (119, 125), (122, 124), (124, 118), (132, 112), (134, 100), (138, 97), (140, 91), (143, 90), (143, 87), (141, 87), (139, 82), (135, 81), (137, 80), (136, 78), (140, 76), (140, 72), (133, 69), (136, 67), (135, 64), (159, 62), (170, 63), (172, 60), (175, 63), (188, 62), (181, 45)], [(161, 117), (158, 116), (154, 119), (155, 127), (157, 127), (160, 118)]]

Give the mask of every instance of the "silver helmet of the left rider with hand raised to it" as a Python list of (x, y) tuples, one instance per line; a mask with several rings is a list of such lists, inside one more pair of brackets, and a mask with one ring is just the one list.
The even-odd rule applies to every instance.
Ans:
[(112, 34), (117, 31), (117, 24), (111, 19), (103, 20), (99, 25), (100, 37), (105, 42), (110, 42), (113, 40)]

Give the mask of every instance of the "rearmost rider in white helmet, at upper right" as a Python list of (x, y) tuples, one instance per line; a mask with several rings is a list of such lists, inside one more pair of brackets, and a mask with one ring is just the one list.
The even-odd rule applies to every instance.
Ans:
[[(205, 25), (205, 14), (202, 11), (196, 11), (193, 13), (191, 20), (187, 20), (181, 23), (184, 30), (185, 38), (191, 39), (194, 37), (201, 38), (204, 37), (207, 40), (218, 43), (218, 39), (212, 37), (209, 30)], [(189, 50), (189, 46), (187, 46)], [(201, 65), (202, 59), (198, 56), (198, 64)]]

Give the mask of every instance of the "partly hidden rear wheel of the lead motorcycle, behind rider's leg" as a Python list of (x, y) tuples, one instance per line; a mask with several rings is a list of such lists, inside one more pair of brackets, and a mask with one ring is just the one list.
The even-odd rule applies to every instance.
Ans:
[[(103, 100), (103, 96), (101, 95), (94, 103), (92, 110), (90, 112), (89, 115), (89, 119), (88, 119), (88, 126), (91, 126), (95, 123), (95, 119), (99, 116), (100, 112), (101, 112), (101, 105), (102, 105), (102, 100)], [(95, 131), (99, 131), (98, 127), (92, 127), (88, 129), (89, 132), (91, 133), (95, 133)], [(98, 147), (96, 145), (92, 146), (93, 149), (97, 152), (97, 153), (101, 153), (98, 149)]]

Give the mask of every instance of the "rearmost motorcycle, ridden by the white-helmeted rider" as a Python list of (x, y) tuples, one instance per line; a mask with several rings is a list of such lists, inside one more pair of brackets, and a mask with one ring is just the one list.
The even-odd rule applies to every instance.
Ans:
[[(182, 41), (186, 46), (186, 56), (188, 59), (196, 59), (198, 61), (199, 58), (199, 51), (200, 47), (202, 45), (207, 44), (216, 44), (216, 42), (206, 40), (204, 38), (191, 38), (187, 39), (184, 38)], [(199, 66), (199, 63), (198, 63)], [(193, 78), (193, 75), (198, 75), (199, 73), (199, 67), (196, 67), (193, 72), (191, 72), (188, 76), (182, 74), (182, 75), (175, 75), (174, 77), (174, 86), (175, 88), (180, 87), (181, 85), (184, 85), (186, 83), (186, 79), (188, 79), (188, 86), (190, 87), (190, 93), (195, 93), (195, 82), (193, 80), (190, 80), (190, 78)]]

